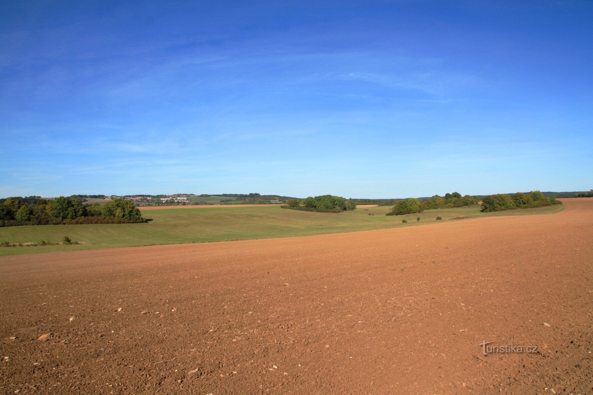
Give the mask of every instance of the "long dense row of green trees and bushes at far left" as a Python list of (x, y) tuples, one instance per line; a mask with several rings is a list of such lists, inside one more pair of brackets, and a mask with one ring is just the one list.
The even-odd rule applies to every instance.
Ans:
[(106, 205), (83, 205), (78, 198), (39, 196), (7, 198), (0, 202), (0, 227), (14, 225), (123, 224), (144, 222), (130, 200), (114, 199)]

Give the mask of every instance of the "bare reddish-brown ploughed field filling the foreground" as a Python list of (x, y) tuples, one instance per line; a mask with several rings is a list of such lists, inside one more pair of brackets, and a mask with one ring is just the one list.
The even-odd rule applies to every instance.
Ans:
[[(554, 215), (0, 257), (0, 390), (592, 393), (593, 199), (564, 202)], [(484, 341), (538, 349), (484, 356)]]

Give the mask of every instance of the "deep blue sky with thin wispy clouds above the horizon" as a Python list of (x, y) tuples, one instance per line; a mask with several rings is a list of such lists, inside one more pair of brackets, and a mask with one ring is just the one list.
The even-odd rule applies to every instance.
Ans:
[(593, 188), (590, 1), (2, 2), (0, 197)]

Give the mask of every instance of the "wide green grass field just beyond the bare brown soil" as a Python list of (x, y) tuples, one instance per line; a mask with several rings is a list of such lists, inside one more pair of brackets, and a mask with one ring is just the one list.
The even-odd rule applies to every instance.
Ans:
[[(81, 244), (0, 247), (0, 256), (64, 250), (202, 243), (290, 237), (445, 222), (457, 216), (553, 214), (564, 205), (482, 213), (479, 207), (428, 210), (419, 214), (385, 216), (388, 207), (358, 208), (339, 214), (281, 209), (279, 206), (174, 208), (144, 211), (145, 224), (42, 225), (0, 228), (0, 243), (60, 243), (64, 236)], [(368, 215), (375, 214), (375, 215)], [(416, 221), (416, 217), (420, 221)], [(441, 216), (443, 221), (436, 221)], [(402, 219), (408, 222), (403, 224)], [(452, 219), (457, 220), (457, 219)]]

